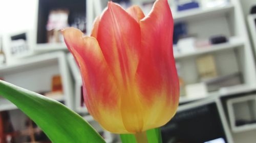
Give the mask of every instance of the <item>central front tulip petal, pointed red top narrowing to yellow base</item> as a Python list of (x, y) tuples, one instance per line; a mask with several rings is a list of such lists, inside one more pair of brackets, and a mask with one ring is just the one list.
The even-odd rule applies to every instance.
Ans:
[[(100, 18), (97, 40), (119, 89), (120, 111), (127, 131), (143, 128), (140, 101), (134, 94), (135, 74), (140, 50), (138, 22), (119, 5), (109, 2)], [(134, 103), (131, 106), (131, 103)]]

